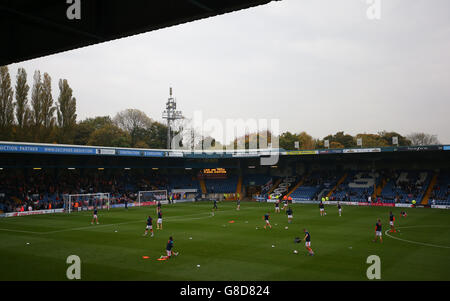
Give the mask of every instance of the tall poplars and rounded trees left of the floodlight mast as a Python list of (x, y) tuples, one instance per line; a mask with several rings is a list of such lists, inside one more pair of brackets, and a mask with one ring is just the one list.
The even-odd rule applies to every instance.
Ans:
[(33, 84), (19, 68), (13, 87), (9, 69), (0, 67), (0, 140), (165, 148), (167, 126), (144, 112), (127, 109), (110, 116), (77, 121), (77, 100), (66, 79), (58, 81), (59, 96), (52, 96), (48, 73), (34, 72)]

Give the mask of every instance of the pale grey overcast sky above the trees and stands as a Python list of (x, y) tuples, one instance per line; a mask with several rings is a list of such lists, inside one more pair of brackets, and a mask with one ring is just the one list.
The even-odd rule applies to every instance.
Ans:
[(161, 114), (279, 119), (315, 138), (426, 132), (450, 143), (450, 1), (283, 0), (10, 65), (68, 79), (78, 119)]

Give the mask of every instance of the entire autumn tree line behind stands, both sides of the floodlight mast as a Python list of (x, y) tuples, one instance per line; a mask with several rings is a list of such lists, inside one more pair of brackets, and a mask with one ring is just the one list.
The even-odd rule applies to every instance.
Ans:
[[(167, 126), (152, 120), (144, 112), (126, 109), (113, 118), (97, 116), (77, 121), (77, 100), (66, 79), (58, 81), (59, 96), (56, 101), (52, 96), (52, 79), (48, 73), (41, 74), (39, 70), (35, 71), (33, 81), (30, 91), (27, 72), (19, 68), (13, 88), (8, 67), (0, 67), (0, 140), (166, 148)], [(254, 145), (257, 148), (266, 148), (267, 144), (258, 144), (260, 137), (267, 143), (271, 143), (273, 138), (268, 131), (247, 134), (236, 138), (228, 148), (250, 148)], [(398, 137), (399, 146), (440, 144), (435, 135), (426, 133), (403, 136), (396, 132), (381, 131), (376, 134), (361, 133), (352, 136), (340, 131), (318, 139), (306, 132), (287, 131), (278, 136), (278, 146), (287, 150), (322, 149), (328, 140), (330, 148), (352, 148), (357, 147), (357, 139), (361, 138), (363, 147), (386, 147), (393, 145), (392, 137)], [(189, 141), (183, 144), (187, 149), (193, 145)], [(213, 137), (205, 137), (195, 143), (194, 147), (221, 150), (226, 146)]]

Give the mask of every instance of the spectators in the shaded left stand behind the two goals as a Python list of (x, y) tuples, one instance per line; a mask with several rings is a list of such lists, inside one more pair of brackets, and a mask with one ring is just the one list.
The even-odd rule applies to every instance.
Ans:
[[(164, 177), (104, 172), (0, 173), (0, 210), (3, 212), (57, 209), (66, 194), (110, 193), (112, 204), (134, 201), (137, 191), (168, 187)], [(178, 196), (176, 196), (178, 197)]]

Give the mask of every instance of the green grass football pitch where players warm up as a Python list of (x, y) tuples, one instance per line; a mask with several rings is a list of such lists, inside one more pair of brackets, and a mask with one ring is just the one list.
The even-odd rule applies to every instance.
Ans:
[[(381, 280), (450, 280), (450, 216), (447, 210), (293, 204), (292, 224), (271, 203), (212, 202), (163, 205), (163, 230), (156, 208), (131, 207), (92, 212), (0, 219), (0, 280), (67, 280), (67, 257), (81, 259), (81, 280), (368, 280), (368, 256), (381, 260)], [(387, 233), (389, 211), (397, 233)], [(269, 212), (272, 229), (265, 230)], [(154, 237), (144, 237), (146, 218)], [(381, 218), (383, 243), (374, 243)], [(232, 222), (234, 221), (234, 222)], [(285, 227), (288, 227), (287, 229)], [(303, 229), (311, 234), (308, 256)], [(165, 255), (173, 236), (177, 257)], [(295, 254), (294, 250), (298, 250)], [(143, 256), (148, 256), (144, 259)]]

